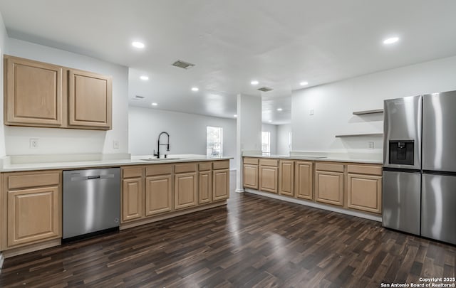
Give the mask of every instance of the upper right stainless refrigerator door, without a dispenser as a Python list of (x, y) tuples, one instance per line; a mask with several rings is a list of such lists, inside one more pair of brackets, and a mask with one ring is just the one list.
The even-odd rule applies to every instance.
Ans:
[(423, 170), (456, 172), (456, 91), (423, 96)]

